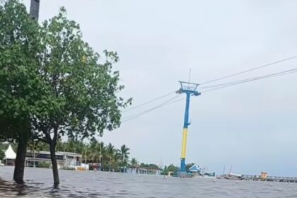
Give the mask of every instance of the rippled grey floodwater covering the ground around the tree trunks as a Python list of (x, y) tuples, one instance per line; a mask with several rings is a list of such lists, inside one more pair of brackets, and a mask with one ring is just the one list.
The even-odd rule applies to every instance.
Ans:
[(0, 197), (297, 197), (297, 183), (182, 179), (95, 171), (25, 168), (25, 185), (12, 180), (13, 167), (0, 167)]

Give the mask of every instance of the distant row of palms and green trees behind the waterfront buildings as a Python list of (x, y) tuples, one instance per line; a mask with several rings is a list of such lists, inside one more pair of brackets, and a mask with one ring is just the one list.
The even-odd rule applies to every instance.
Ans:
[[(11, 144), (13, 150), (17, 148), (17, 144)], [(49, 145), (42, 141), (30, 141), (28, 149), (31, 151), (49, 151)], [(1, 151), (5, 151), (8, 144), (0, 143), (0, 157)], [(130, 148), (123, 144), (120, 148), (116, 148), (111, 143), (104, 144), (102, 141), (91, 139), (88, 143), (80, 140), (58, 141), (57, 151), (79, 153), (81, 154), (81, 163), (101, 163), (103, 171), (121, 172), (127, 168), (159, 168), (153, 163), (139, 163), (136, 158), (130, 157)], [(4, 153), (3, 153), (4, 154)], [(1, 159), (1, 158), (0, 158)], [(40, 163), (37, 167), (50, 168), (48, 163)]]

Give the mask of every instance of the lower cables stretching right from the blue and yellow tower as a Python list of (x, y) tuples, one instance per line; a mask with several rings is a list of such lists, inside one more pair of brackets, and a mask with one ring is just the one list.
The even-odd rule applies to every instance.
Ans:
[(261, 80), (261, 79), (264, 79), (264, 78), (273, 78), (273, 77), (276, 77), (276, 76), (284, 76), (284, 75), (293, 74), (293, 73), (297, 73), (297, 68), (296, 69), (289, 69), (289, 70), (286, 70), (286, 71), (281, 71), (281, 72), (274, 73), (274, 74), (268, 74), (268, 75), (265, 75), (265, 76), (258, 76), (258, 77), (255, 77), (255, 78), (247, 78), (247, 79), (244, 79), (244, 80), (241, 80), (241, 81), (233, 81), (233, 82), (230, 82), (230, 83), (223, 83), (223, 84), (215, 85), (214, 87), (216, 87), (216, 88), (211, 88), (211, 86), (209, 86), (209, 88), (211, 88), (211, 89), (208, 89), (206, 91), (202, 91), (202, 93), (206, 93), (206, 92), (209, 92), (209, 91), (215, 91), (215, 90), (218, 90), (218, 89), (221, 89), (221, 88), (226, 88), (226, 87), (229, 87), (229, 86), (235, 86), (235, 85), (238, 85), (238, 84), (241, 84), (241, 83), (248, 83), (250, 81), (257, 81), (257, 80)]

